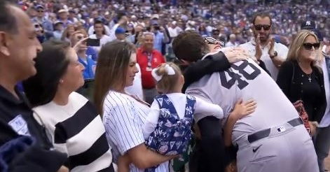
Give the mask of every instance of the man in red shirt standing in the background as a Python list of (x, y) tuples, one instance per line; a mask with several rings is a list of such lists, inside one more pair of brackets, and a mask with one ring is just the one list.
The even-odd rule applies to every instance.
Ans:
[(142, 35), (142, 46), (137, 50), (137, 63), (141, 67), (142, 88), (147, 103), (152, 103), (153, 98), (158, 95), (151, 71), (158, 65), (165, 63), (163, 55), (153, 48), (153, 38), (152, 32), (145, 32)]

